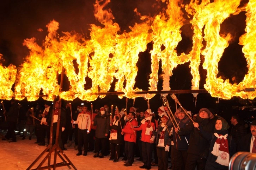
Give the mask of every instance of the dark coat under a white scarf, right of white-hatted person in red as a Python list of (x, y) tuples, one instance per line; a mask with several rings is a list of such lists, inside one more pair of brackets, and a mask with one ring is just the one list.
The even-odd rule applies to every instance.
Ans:
[[(166, 125), (167, 125), (167, 128), (169, 130), (169, 132), (171, 131), (171, 128), (172, 128), (172, 123), (171, 123), (171, 120), (168, 120), (168, 122), (166, 122)], [(164, 127), (161, 127), (161, 123), (158, 125), (158, 130), (157, 131), (153, 131), (153, 136), (156, 137), (156, 147), (157, 148), (162, 148), (164, 149), (165, 147), (161, 147), (161, 146), (157, 146), (158, 145), (158, 142), (159, 142), (159, 138), (160, 138), (160, 135), (161, 135), (161, 132), (163, 131)], [(171, 139), (169, 137), (169, 133), (167, 131), (167, 129), (165, 129), (165, 132), (164, 132), (164, 146), (171, 146)]]

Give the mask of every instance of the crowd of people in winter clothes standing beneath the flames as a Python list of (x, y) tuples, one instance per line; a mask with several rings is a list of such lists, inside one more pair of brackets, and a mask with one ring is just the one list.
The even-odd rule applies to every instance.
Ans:
[[(62, 150), (67, 150), (65, 144), (71, 146), (74, 139), (77, 156), (87, 156), (87, 152), (93, 151), (95, 158), (110, 154), (109, 161), (124, 161), (124, 166), (132, 166), (134, 158), (139, 157), (137, 160), (143, 163), (141, 169), (158, 166), (159, 170), (167, 170), (169, 157), (169, 169), (228, 169), (229, 159), (237, 151), (256, 153), (256, 120), (251, 122), (250, 133), (247, 134), (238, 115), (231, 117), (229, 125), (223, 117), (207, 108), (192, 116), (183, 107), (172, 114), (167, 107), (160, 106), (155, 114), (149, 108), (142, 111), (134, 106), (126, 110), (103, 105), (89, 110), (89, 106), (79, 105), (72, 110), (70, 103), (64, 103), (64, 107), (60, 108), (57, 101), (53, 108), (52, 102), (45, 101), (44, 109), (40, 109), (39, 105), (35, 109), (29, 108), (25, 114), (26, 131), (22, 139), (25, 140), (29, 132), (31, 140), (35, 132), (36, 144), (49, 144), (53, 121), (54, 144), (60, 121), (58, 134)], [(18, 103), (12, 100), (10, 109), (4, 112), (9, 126), (2, 140), (17, 141), (14, 130), (18, 110)]]

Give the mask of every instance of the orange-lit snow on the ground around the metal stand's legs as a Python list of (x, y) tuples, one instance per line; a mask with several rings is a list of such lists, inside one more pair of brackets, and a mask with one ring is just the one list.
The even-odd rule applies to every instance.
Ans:
[[(3, 134), (3, 133), (1, 133)], [(22, 137), (17, 136), (17, 142), (8, 143), (6, 140), (0, 140), (0, 169), (4, 170), (25, 170), (27, 169), (33, 161), (43, 152), (46, 146), (38, 146), (34, 142), (36, 142), (35, 136), (32, 137), (32, 140), (28, 140), (26, 137), (25, 140), (21, 140)], [(68, 150), (63, 151), (69, 160), (74, 164), (74, 166), (78, 170), (139, 170), (139, 166), (142, 166), (143, 163), (137, 161), (135, 158), (135, 162), (132, 166), (124, 166), (124, 162), (121, 161), (122, 157), (119, 159), (119, 162), (113, 163), (108, 159), (110, 156), (104, 156), (104, 158), (94, 158), (93, 155), (95, 153), (88, 152), (87, 156), (76, 156), (78, 150), (74, 150), (74, 144), (72, 146), (67, 147)], [(48, 152), (47, 152), (48, 153)], [(36, 168), (41, 160), (46, 156), (45, 153), (41, 159), (34, 165), (32, 169)], [(53, 163), (54, 153), (51, 154), (51, 161)], [(47, 166), (48, 160), (43, 166)], [(62, 162), (61, 159), (57, 156), (57, 162)], [(58, 170), (69, 170), (67, 166), (62, 166), (56, 168)], [(72, 168), (73, 169), (73, 168)], [(152, 166), (151, 169), (158, 169), (157, 166)], [(140, 169), (141, 170), (141, 169)]]

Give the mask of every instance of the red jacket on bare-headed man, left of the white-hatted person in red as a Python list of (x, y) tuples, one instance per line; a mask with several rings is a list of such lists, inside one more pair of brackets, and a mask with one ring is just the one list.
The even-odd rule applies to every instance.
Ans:
[[(131, 124), (133, 126), (138, 126), (138, 122), (137, 122), (136, 119), (132, 119)], [(124, 126), (123, 132), (124, 132), (124, 141), (136, 143), (136, 136), (135, 136), (135, 134), (137, 132), (135, 131), (135, 134), (134, 134), (134, 131), (133, 131), (133, 129), (132, 129), (132, 127), (131, 127), (129, 122), (127, 122), (126, 125)]]

